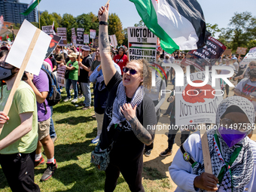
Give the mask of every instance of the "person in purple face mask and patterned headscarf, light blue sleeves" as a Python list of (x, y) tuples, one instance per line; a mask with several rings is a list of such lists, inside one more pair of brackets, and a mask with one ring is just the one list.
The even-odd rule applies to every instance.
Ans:
[(224, 99), (215, 129), (207, 132), (213, 174), (204, 170), (200, 133), (194, 133), (169, 166), (178, 185), (175, 191), (256, 191), (256, 143), (247, 137), (251, 128), (255, 128), (251, 102), (240, 96)]

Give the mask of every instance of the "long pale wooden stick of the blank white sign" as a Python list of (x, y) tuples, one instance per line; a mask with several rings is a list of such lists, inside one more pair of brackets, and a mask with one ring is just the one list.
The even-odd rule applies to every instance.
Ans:
[[(25, 72), (26, 66), (27, 66), (27, 64), (29, 62), (30, 56), (32, 54), (32, 51), (33, 51), (33, 49), (35, 47), (36, 41), (38, 41), (38, 37), (40, 35), (40, 32), (41, 32), (40, 29), (36, 29), (35, 35), (33, 36), (31, 43), (29, 44), (29, 49), (26, 51), (26, 56), (23, 59), (23, 63), (20, 66), (20, 71), (18, 72), (18, 74), (16, 76), (16, 79), (14, 81), (14, 85), (11, 88), (11, 93), (8, 96), (8, 100), (7, 100), (6, 104), (5, 104), (5, 108), (4, 108), (5, 114), (8, 114), (9, 111), (10, 111), (11, 104), (12, 104), (13, 99), (14, 99), (14, 93), (16, 92), (17, 88), (20, 85), (20, 80), (23, 77), (23, 73)], [(1, 133), (2, 133), (2, 129), (0, 129), (0, 134)]]

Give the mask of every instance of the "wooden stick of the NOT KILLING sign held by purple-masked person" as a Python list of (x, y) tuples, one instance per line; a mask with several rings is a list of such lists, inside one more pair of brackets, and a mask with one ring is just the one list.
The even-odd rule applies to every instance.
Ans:
[(206, 129), (202, 129), (202, 127), (206, 127), (205, 123), (200, 123), (200, 136), (201, 136), (201, 144), (203, 151), (203, 163), (205, 167), (205, 172), (212, 174), (212, 161), (209, 151), (209, 143), (207, 139)]

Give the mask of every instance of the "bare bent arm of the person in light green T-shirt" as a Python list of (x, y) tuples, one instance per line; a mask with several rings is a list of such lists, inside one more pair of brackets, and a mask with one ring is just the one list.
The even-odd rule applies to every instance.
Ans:
[(8, 136), (0, 141), (0, 150), (17, 142), (18, 139), (22, 138), (26, 133), (29, 133), (29, 131), (32, 130), (32, 112), (20, 114), (20, 120), (20, 126), (17, 126)]

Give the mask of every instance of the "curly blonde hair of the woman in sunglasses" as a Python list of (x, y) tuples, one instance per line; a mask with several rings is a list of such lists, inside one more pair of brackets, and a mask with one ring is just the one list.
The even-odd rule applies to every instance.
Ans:
[(141, 67), (140, 73), (142, 74), (143, 81), (140, 85), (143, 85), (148, 90), (151, 90), (152, 71), (150, 64), (146, 59), (131, 60), (130, 62), (136, 62)]

